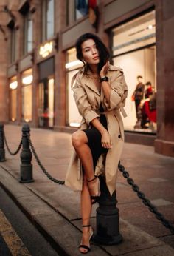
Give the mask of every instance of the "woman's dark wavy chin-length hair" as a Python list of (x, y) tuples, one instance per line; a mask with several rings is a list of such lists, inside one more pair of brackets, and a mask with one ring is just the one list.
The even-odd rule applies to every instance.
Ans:
[[(108, 48), (105, 47), (105, 44), (103, 44), (102, 40), (98, 36), (96, 36), (92, 33), (86, 33), (77, 39), (76, 44), (75, 44), (76, 51), (77, 51), (77, 58), (80, 61), (82, 61), (83, 64), (85, 65), (85, 62), (83, 61), (83, 53), (82, 53), (81, 45), (83, 44), (84, 41), (86, 41), (88, 39), (94, 40), (97, 50), (99, 52), (100, 63), (98, 64), (98, 72), (100, 73), (100, 70), (108, 61), (110, 54), (109, 54)], [(87, 64), (87, 69), (88, 69), (88, 64)]]

